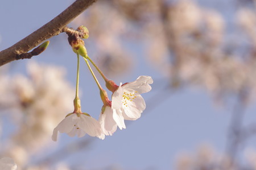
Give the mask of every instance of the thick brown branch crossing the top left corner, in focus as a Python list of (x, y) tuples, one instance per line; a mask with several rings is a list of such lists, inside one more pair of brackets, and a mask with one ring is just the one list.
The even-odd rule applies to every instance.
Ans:
[(87, 9), (93, 2), (97, 0), (77, 0), (62, 13), (57, 15), (50, 22), (44, 24), (38, 30), (20, 40), (13, 46), (0, 51), (0, 66), (10, 63), (11, 61), (20, 59), (20, 55), (27, 53), (44, 40), (52, 38), (60, 34), (61, 30)]

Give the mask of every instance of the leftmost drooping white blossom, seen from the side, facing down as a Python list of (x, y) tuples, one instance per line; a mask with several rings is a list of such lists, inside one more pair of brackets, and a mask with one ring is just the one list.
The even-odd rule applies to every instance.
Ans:
[(58, 131), (67, 133), (71, 137), (77, 134), (77, 136), (81, 138), (85, 134), (88, 134), (90, 136), (97, 136), (101, 139), (104, 138), (102, 136), (100, 123), (86, 113), (72, 113), (65, 117), (65, 119), (54, 128), (52, 134), (53, 141), (57, 141)]

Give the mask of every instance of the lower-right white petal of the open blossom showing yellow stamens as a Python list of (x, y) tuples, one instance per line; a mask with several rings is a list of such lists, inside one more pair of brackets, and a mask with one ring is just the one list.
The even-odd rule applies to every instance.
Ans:
[(132, 101), (127, 100), (127, 104), (123, 105), (123, 110), (125, 114), (130, 119), (127, 120), (136, 120), (141, 117), (141, 113), (146, 108), (146, 103), (141, 95), (137, 95)]

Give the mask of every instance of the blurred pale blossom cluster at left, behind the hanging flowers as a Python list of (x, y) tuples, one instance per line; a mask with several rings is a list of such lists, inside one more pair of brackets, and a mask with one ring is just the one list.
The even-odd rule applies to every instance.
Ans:
[(13, 123), (9, 136), (0, 132), (0, 157), (12, 157), (20, 169), (51, 143), (53, 128), (72, 107), (74, 91), (63, 67), (30, 61), (26, 68), (26, 76), (0, 69), (0, 131)]

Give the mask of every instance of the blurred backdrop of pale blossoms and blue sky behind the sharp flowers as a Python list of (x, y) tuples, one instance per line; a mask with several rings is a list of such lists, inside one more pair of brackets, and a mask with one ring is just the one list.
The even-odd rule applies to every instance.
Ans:
[[(0, 50), (72, 2), (1, 2)], [(53, 128), (73, 111), (75, 98), (76, 55), (60, 34), (41, 55), (0, 68), (0, 157), (30, 170), (256, 169), (255, 5), (97, 1), (69, 27), (89, 29), (89, 56), (117, 84), (152, 76), (142, 117), (105, 140), (60, 134), (52, 142)], [(98, 119), (97, 85), (80, 64), (82, 111)]]

